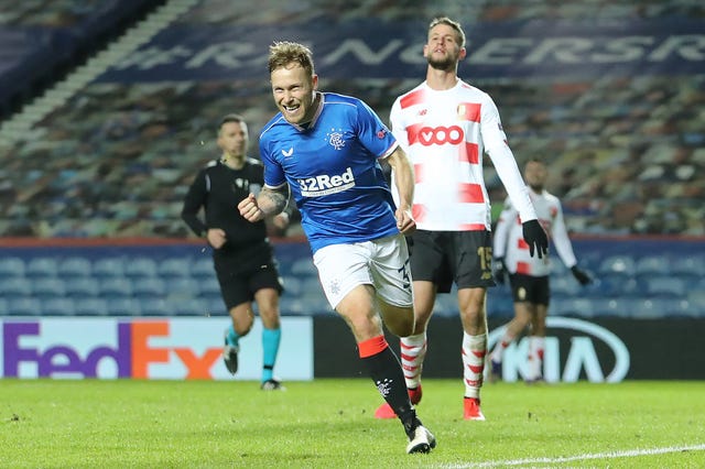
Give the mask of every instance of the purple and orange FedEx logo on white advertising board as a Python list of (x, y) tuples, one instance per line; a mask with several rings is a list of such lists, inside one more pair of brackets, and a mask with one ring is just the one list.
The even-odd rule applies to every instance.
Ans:
[[(170, 345), (172, 330), (167, 320), (75, 323), (79, 327), (48, 319), (2, 324), (2, 375), (147, 379), (159, 378), (154, 369), (162, 367), (162, 372), (171, 368), (171, 374), (185, 379), (213, 379), (214, 364), (221, 353), (219, 346), (197, 351), (188, 346)], [(86, 328), (83, 334), (80, 326)], [(63, 340), (44, 338), (44, 329), (55, 328), (72, 329), (73, 334), (63, 335)], [(112, 330), (108, 345), (91, 341), (96, 336), (107, 339), (110, 334), (106, 328)], [(166, 343), (158, 345), (160, 339)]]

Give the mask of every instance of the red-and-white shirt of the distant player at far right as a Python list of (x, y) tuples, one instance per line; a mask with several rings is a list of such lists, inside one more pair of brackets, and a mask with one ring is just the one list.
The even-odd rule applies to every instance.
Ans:
[[(539, 216), (539, 222), (555, 246), (558, 257), (566, 268), (572, 268), (577, 261), (563, 220), (561, 201), (546, 190), (541, 194), (530, 190), (529, 194)], [(495, 228), (492, 254), (495, 258), (505, 258), (505, 266), (511, 273), (532, 276), (545, 276), (551, 273), (549, 255), (539, 259), (538, 255), (532, 258), (529, 253), (529, 244), (523, 240), (519, 214), (509, 199), (505, 201), (505, 208)]]

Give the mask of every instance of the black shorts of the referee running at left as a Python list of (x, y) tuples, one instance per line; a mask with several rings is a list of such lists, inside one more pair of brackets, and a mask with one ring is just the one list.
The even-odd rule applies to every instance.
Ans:
[[(217, 251), (216, 251), (217, 252)], [(252, 302), (254, 293), (262, 288), (284, 291), (269, 243), (227, 255), (214, 255), (220, 294), (228, 310), (242, 303)]]

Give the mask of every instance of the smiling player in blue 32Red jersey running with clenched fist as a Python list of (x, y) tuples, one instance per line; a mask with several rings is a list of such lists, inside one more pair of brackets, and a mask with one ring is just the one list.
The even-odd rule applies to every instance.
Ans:
[[(250, 221), (282, 211), (291, 190), (330, 306), (346, 320), (360, 359), (380, 394), (399, 416), (406, 452), (429, 452), (435, 437), (416, 416), (389, 330), (413, 332), (414, 312), (404, 234), (411, 216), (414, 174), (406, 154), (361, 100), (318, 91), (312, 52), (276, 42), (269, 72), (279, 113), (260, 134), (264, 186), (239, 205)], [(380, 160), (393, 170), (395, 205)]]

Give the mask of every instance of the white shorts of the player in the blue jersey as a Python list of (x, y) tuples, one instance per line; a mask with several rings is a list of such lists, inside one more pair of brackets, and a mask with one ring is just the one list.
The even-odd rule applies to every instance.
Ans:
[(402, 234), (326, 246), (316, 251), (313, 263), (334, 309), (352, 288), (365, 284), (372, 285), (378, 297), (392, 306), (413, 305), (409, 249)]

